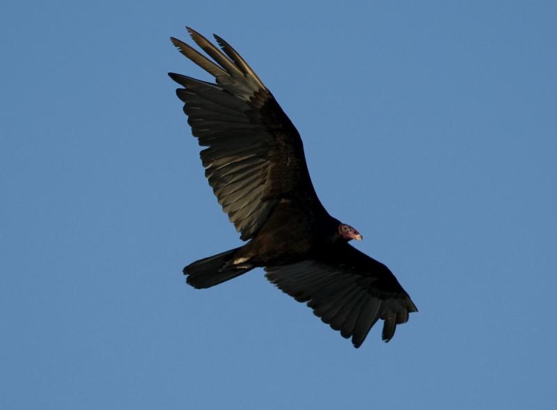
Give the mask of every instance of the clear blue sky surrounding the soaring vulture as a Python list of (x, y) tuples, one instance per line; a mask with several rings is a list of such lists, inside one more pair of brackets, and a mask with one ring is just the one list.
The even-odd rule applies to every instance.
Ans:
[[(366, 6), (362, 6), (363, 4)], [(1, 409), (550, 409), (557, 402), (554, 1), (0, 6)], [(233, 44), (315, 188), (420, 311), (355, 350), (254, 270), (168, 41)]]

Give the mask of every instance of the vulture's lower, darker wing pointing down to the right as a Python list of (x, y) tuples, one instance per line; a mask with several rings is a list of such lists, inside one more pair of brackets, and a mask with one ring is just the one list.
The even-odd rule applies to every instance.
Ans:
[(377, 320), (384, 320), (383, 340), (395, 334), (416, 306), (391, 270), (347, 243), (334, 245), (314, 259), (265, 268), (265, 276), (340, 334), (360, 347)]

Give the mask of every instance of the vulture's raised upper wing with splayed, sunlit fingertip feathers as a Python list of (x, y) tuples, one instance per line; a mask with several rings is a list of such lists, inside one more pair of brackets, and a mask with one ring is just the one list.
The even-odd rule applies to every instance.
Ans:
[(240, 238), (253, 238), (281, 197), (322, 207), (299, 133), (271, 92), (224, 40), (214, 36), (223, 53), (187, 29), (213, 60), (175, 38), (173, 44), (217, 83), (168, 75), (184, 87), (176, 92), (185, 103), (191, 132), (207, 147), (201, 151), (205, 177)]

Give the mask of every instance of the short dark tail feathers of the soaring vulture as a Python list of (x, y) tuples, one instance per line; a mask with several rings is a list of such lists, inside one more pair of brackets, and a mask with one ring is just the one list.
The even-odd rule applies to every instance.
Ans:
[(234, 254), (239, 247), (190, 263), (184, 268), (187, 283), (194, 288), (210, 288), (252, 270), (249, 265), (234, 265)]

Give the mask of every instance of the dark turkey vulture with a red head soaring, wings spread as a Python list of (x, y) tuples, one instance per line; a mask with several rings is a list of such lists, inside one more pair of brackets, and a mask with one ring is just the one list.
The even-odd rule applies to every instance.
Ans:
[(360, 347), (377, 320), (388, 342), (396, 325), (416, 306), (382, 263), (348, 242), (362, 240), (322, 206), (304, 157), (298, 131), (244, 58), (214, 35), (189, 35), (212, 58), (171, 38), (189, 60), (214, 76), (208, 83), (168, 73), (182, 85), (191, 133), (199, 145), (205, 177), (244, 246), (200, 259), (184, 268), (187, 283), (210, 288), (253, 268), (313, 313), (352, 336)]

